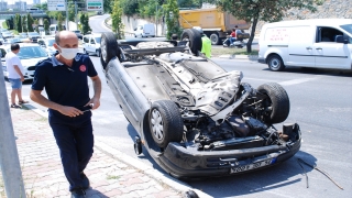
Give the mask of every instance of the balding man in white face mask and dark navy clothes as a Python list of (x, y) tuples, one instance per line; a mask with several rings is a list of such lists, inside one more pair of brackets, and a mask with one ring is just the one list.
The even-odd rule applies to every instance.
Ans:
[[(78, 53), (74, 32), (55, 35), (52, 57), (36, 65), (31, 99), (48, 108), (48, 123), (61, 152), (72, 197), (85, 197), (89, 179), (84, 173), (94, 153), (91, 111), (100, 106), (101, 80), (88, 55)], [(89, 97), (87, 76), (92, 81)], [(43, 89), (47, 98), (42, 95)]]

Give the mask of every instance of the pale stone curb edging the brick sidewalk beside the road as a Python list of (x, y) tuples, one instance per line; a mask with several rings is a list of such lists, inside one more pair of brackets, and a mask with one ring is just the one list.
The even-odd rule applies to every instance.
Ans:
[[(25, 108), (28, 108), (29, 110), (34, 111), (35, 113), (47, 118), (47, 112), (42, 111), (37, 108), (35, 108), (32, 105), (25, 103), (23, 105)], [(147, 175), (148, 177), (155, 179), (157, 183), (161, 184), (165, 184), (167, 185), (169, 188), (172, 188), (173, 190), (175, 190), (176, 193), (179, 193), (180, 195), (183, 195), (184, 197), (188, 197), (186, 196), (186, 193), (189, 190), (195, 191), (200, 198), (211, 198), (211, 196), (209, 196), (208, 194), (199, 190), (199, 189), (195, 189), (191, 186), (189, 186), (188, 184), (182, 182), (182, 180), (177, 180), (176, 178), (158, 172), (156, 169), (154, 169), (153, 167), (146, 166), (144, 165), (142, 162), (107, 145), (101, 143), (98, 140), (95, 140), (95, 148), (99, 150), (100, 152), (109, 155), (110, 157), (118, 160), (124, 164), (128, 164), (129, 166), (133, 166), (135, 169), (141, 170), (141, 173)]]

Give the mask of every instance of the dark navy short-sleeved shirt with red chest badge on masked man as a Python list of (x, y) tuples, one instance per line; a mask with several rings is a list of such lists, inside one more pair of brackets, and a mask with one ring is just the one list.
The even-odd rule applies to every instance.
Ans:
[[(56, 55), (56, 54), (55, 54)], [(77, 54), (72, 67), (58, 62), (53, 55), (36, 64), (33, 90), (43, 90), (48, 100), (85, 110), (85, 105), (90, 100), (88, 78), (97, 76), (97, 70), (88, 55)], [(50, 116), (59, 112), (50, 109)]]

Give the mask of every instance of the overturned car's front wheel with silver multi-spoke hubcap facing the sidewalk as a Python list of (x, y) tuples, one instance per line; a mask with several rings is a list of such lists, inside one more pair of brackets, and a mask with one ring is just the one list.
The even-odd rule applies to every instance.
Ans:
[(182, 141), (184, 121), (174, 101), (153, 102), (148, 122), (153, 140), (160, 147), (166, 147), (169, 142)]

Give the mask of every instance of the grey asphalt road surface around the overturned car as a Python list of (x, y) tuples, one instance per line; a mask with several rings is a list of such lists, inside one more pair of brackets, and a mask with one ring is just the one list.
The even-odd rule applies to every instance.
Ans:
[[(90, 22), (98, 24), (103, 16), (106, 15), (96, 16)], [(105, 82), (99, 58), (90, 57), (103, 81), (101, 107), (94, 111), (92, 117), (95, 138), (139, 158), (145, 166), (154, 166), (163, 172), (144, 150), (140, 156), (134, 154), (133, 138), (136, 132), (124, 119)], [(242, 81), (250, 82), (253, 87), (272, 81), (280, 84), (290, 99), (290, 113), (286, 122), (299, 123), (302, 145), (295, 157), (272, 168), (234, 177), (188, 182), (189, 185), (213, 197), (351, 197), (352, 72), (287, 68), (275, 73), (256, 62), (220, 58), (213, 61), (229, 72), (242, 70)], [(30, 86), (30, 82), (23, 86), (25, 99), (29, 99)], [(7, 89), (11, 89), (9, 82)], [(33, 102), (31, 105), (41, 108)], [(280, 124), (276, 128), (280, 129)], [(318, 170), (304, 165), (309, 178), (307, 188), (297, 157), (316, 164), (344, 187), (344, 190), (339, 189)]]

